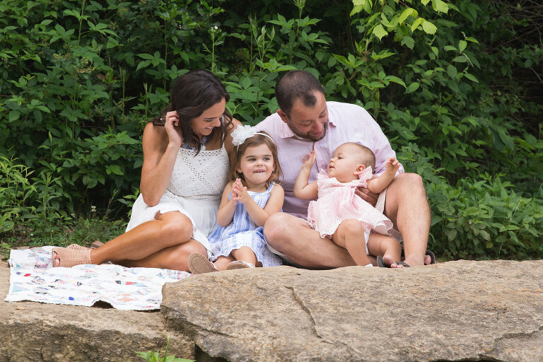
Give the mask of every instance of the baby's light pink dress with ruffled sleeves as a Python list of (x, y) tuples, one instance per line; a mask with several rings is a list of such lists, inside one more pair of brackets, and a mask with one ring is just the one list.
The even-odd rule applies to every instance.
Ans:
[(320, 233), (321, 238), (331, 236), (341, 221), (356, 219), (364, 230), (390, 235), (397, 238), (398, 232), (392, 228), (392, 221), (373, 206), (354, 194), (356, 187), (367, 187), (372, 177), (371, 167), (366, 168), (358, 180), (339, 182), (336, 177), (328, 177), (325, 170), (317, 175), (319, 190), (317, 201), (309, 203), (308, 223)]

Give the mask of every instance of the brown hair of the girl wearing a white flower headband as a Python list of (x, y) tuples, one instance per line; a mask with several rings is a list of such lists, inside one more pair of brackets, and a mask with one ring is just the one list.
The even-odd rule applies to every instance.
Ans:
[[(277, 146), (274, 144), (274, 141), (271, 140), (269, 134), (263, 131), (259, 133), (263, 134), (255, 134), (255, 136), (251, 136), (248, 139), (245, 139), (243, 144), (240, 144), (239, 146), (234, 148), (235, 157), (233, 157), (233, 160), (230, 163), (230, 173), (228, 175), (230, 181), (235, 181), (235, 179), (239, 178), (243, 186), (247, 186), (247, 182), (245, 182), (245, 177), (243, 177), (243, 173), (238, 173), (236, 168), (238, 168), (238, 166), (240, 165), (240, 160), (247, 148), (265, 144), (270, 149), (271, 156), (274, 158), (274, 170), (271, 172), (271, 175), (269, 175), (269, 178), (266, 181), (266, 188), (271, 185), (271, 182), (281, 183), (281, 178), (283, 178), (283, 171), (281, 170), (281, 165), (279, 165), (279, 158), (277, 157)], [(267, 136), (265, 136), (264, 134), (267, 134)]]

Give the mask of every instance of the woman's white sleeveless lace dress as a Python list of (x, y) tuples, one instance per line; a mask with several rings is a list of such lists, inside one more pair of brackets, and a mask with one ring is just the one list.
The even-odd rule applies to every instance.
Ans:
[(127, 231), (146, 221), (154, 220), (158, 211), (179, 211), (192, 221), (192, 238), (206, 247), (211, 257), (207, 235), (216, 226), (218, 205), (228, 182), (228, 152), (196, 151), (180, 148), (177, 153), (170, 184), (156, 206), (148, 206), (140, 194), (132, 206)]

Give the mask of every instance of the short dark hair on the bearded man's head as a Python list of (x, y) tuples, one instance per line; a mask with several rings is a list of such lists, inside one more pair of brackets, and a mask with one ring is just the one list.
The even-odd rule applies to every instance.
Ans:
[(277, 83), (275, 98), (279, 108), (288, 115), (297, 99), (301, 100), (305, 107), (315, 107), (315, 92), (324, 95), (325, 89), (313, 74), (308, 71), (289, 71)]

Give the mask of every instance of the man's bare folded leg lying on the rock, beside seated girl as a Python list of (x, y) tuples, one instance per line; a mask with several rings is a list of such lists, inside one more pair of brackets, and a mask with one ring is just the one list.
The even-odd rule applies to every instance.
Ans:
[(303, 219), (286, 213), (269, 216), (264, 225), (267, 243), (303, 267), (337, 268), (356, 265), (346, 249), (322, 239)]

